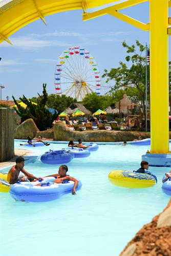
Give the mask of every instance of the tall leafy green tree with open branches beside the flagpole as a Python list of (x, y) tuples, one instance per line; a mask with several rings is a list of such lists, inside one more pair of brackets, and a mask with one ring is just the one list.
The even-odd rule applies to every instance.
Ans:
[[(129, 46), (125, 41), (122, 46), (129, 53), (125, 60), (129, 63), (120, 61), (118, 68), (112, 68), (109, 72), (104, 70), (102, 77), (106, 77), (106, 82), (115, 80), (115, 86), (112, 92), (123, 89), (126, 93), (138, 96), (142, 102), (142, 108), (145, 116), (145, 47), (136, 40), (136, 46)], [(147, 66), (147, 84), (149, 87), (149, 65)]]

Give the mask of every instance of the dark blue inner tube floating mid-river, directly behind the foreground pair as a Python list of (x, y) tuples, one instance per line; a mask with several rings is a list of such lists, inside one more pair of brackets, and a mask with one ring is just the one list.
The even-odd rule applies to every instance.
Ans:
[(47, 164), (61, 164), (69, 163), (74, 158), (74, 154), (68, 150), (56, 150), (48, 151), (45, 154), (41, 155), (40, 160), (43, 163)]

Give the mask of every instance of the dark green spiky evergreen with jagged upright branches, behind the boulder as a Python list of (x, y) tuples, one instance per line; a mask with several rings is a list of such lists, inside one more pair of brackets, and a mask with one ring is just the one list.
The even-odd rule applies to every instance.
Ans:
[(48, 100), (46, 86), (47, 84), (44, 83), (42, 95), (38, 94), (39, 97), (37, 98), (37, 105), (32, 104), (31, 100), (27, 99), (25, 95), (19, 98), (27, 105), (26, 109), (18, 104), (14, 96), (12, 96), (15, 104), (17, 105), (17, 109), (15, 109), (15, 111), (21, 117), (21, 121), (23, 122), (28, 118), (32, 118), (40, 131), (47, 130), (48, 127), (51, 127), (52, 122), (57, 116), (56, 113), (53, 115), (51, 112), (49, 112), (46, 106)]

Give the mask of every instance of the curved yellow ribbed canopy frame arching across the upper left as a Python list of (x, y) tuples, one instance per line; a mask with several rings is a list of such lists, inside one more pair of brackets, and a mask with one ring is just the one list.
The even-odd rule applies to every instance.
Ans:
[(45, 16), (75, 10), (98, 7), (118, 0), (13, 0), (0, 8), (0, 43), (34, 20)]

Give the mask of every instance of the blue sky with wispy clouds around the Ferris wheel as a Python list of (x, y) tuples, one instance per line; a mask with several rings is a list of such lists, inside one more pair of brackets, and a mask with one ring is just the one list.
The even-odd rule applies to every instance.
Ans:
[[(149, 20), (148, 3), (122, 12), (145, 23)], [(123, 40), (127, 44), (134, 44), (136, 39), (144, 45), (149, 43), (148, 32), (110, 15), (82, 22), (82, 11), (75, 10), (47, 16), (46, 21), (47, 26), (37, 20), (11, 35), (13, 46), (7, 42), (0, 45), (0, 83), (5, 86), (3, 99), (7, 95), (10, 99), (12, 95), (15, 98), (23, 94), (28, 98), (37, 96), (37, 92), (42, 92), (44, 82), (47, 83), (48, 93), (55, 93), (56, 61), (68, 47), (81, 46), (90, 50), (102, 75), (104, 69), (118, 67), (119, 61), (124, 61)], [(111, 82), (109, 86), (113, 84)], [(106, 86), (105, 80), (102, 80), (102, 86)], [(103, 87), (101, 94), (107, 90)]]

